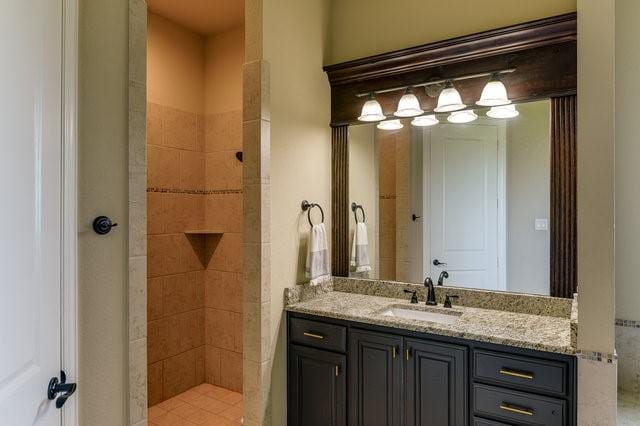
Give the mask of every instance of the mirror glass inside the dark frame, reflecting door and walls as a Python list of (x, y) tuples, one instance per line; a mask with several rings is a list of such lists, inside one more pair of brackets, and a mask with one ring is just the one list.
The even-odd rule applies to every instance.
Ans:
[(550, 294), (550, 102), (516, 108), (349, 127), (349, 204), (362, 206), (367, 237), (350, 212), (350, 275)]

